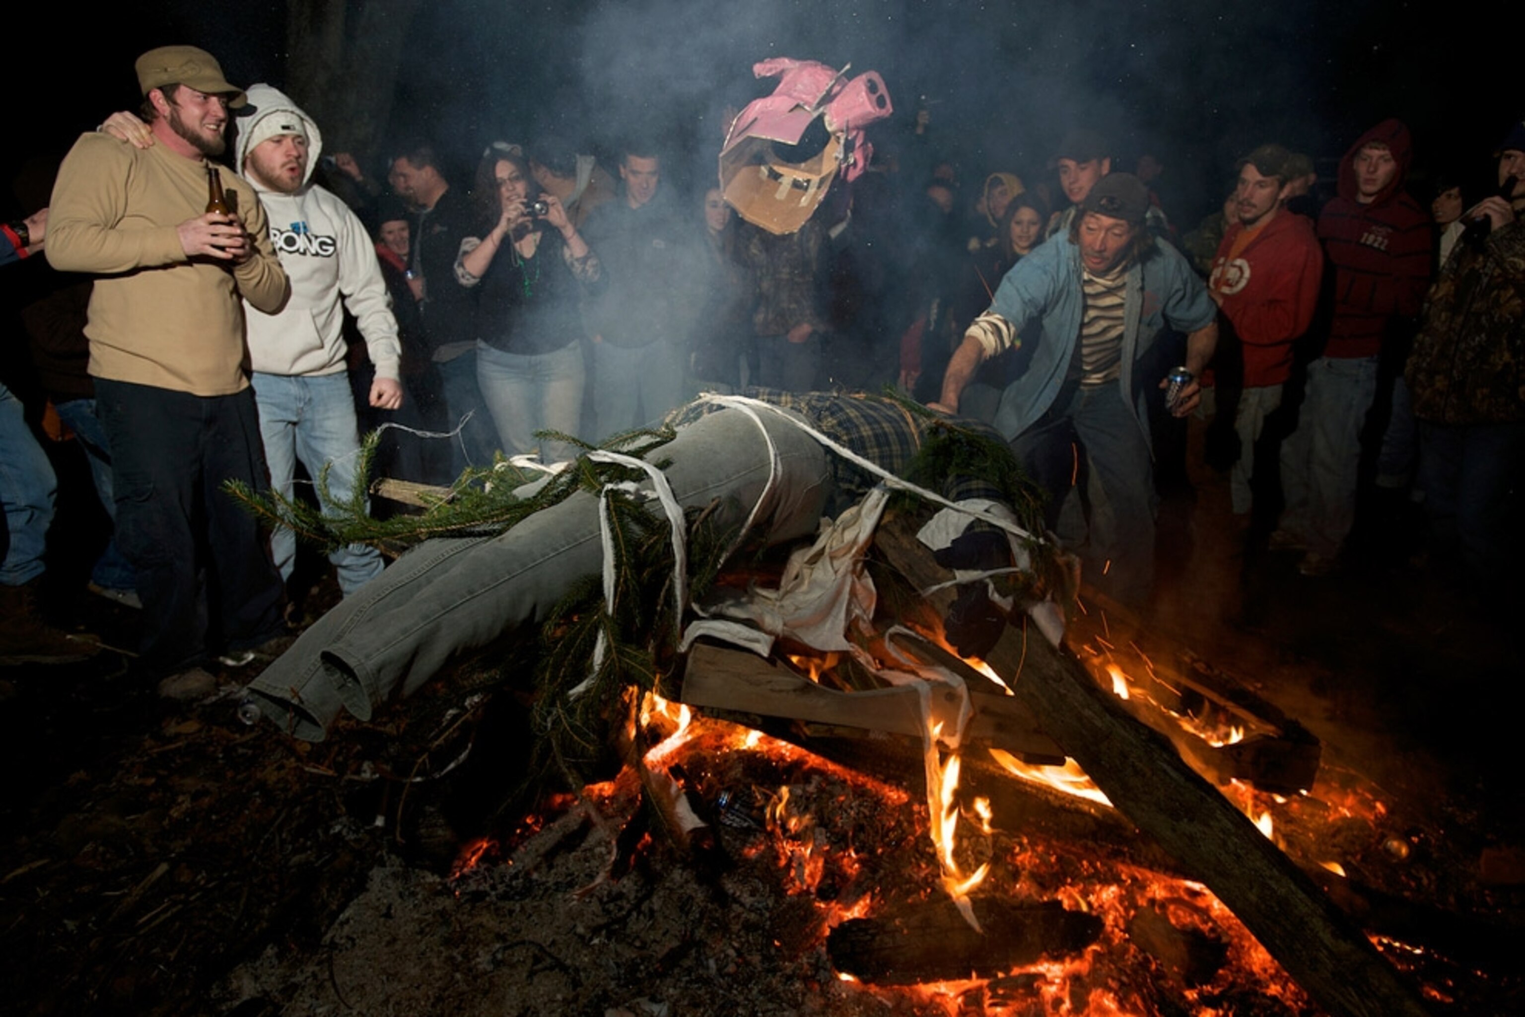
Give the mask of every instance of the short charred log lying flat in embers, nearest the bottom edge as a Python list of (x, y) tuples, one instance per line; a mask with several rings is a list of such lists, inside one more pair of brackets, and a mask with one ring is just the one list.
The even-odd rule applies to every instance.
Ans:
[(976, 900), (974, 932), (952, 901), (912, 904), (877, 918), (852, 918), (827, 939), (837, 971), (875, 985), (991, 977), (1045, 958), (1072, 956), (1101, 935), (1095, 915), (1058, 904), (1023, 907)]

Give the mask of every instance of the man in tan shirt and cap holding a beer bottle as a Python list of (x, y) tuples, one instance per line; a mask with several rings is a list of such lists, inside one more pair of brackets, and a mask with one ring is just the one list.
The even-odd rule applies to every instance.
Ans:
[[(268, 543), (223, 483), (268, 486), (241, 297), (273, 313), (290, 290), (255, 192), (210, 160), (244, 93), (192, 46), (143, 53), (137, 79), (159, 143), (82, 136), (58, 172), (46, 253), (96, 274), (85, 335), (142, 662), (163, 694), (194, 695), (214, 685), (210, 654), (282, 631)], [(204, 212), (212, 174), (233, 215)]]

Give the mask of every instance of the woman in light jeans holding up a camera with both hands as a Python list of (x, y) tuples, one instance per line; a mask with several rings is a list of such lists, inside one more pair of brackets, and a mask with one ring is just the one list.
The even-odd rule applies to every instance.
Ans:
[(456, 281), (477, 288), (477, 384), (508, 454), (570, 454), (538, 430), (576, 435), (583, 415), (578, 300), (598, 285), (598, 256), (529, 163), (502, 142), (477, 168), (483, 236), (461, 241)]

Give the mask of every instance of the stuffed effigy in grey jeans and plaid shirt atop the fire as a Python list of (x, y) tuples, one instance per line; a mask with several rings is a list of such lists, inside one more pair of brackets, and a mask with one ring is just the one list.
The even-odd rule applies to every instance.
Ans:
[[(727, 529), (782, 544), (810, 537), (824, 517), (888, 483), (964, 512), (959, 532), (942, 535), (952, 564), (988, 567), (993, 547), (1006, 549), (994, 564), (1026, 564), (1026, 555), (1010, 552), (1011, 537), (1035, 546), (1019, 525), (1031, 525), (1035, 505), (1013, 494), (1022, 489), (1016, 464), (982, 424), (888, 396), (750, 395), (705, 396), (682, 407), (669, 418), (673, 439), (644, 459), (587, 454), (644, 470), (644, 483), (613, 486), (662, 503), (673, 520), (677, 619), (686, 607), (683, 512), (692, 508), (708, 506), (706, 515)], [(929, 470), (939, 474), (935, 489), (904, 480)], [(531, 489), (520, 492), (528, 497)], [(996, 503), (1000, 511), (991, 509)], [(322, 739), (340, 711), (369, 720), (454, 654), (532, 631), (589, 576), (602, 570), (612, 590), (608, 534), (602, 496), (575, 489), (500, 534), (427, 540), (308, 628), (249, 694), (267, 717), (307, 739)], [(981, 587), (971, 590), (978, 599)]]

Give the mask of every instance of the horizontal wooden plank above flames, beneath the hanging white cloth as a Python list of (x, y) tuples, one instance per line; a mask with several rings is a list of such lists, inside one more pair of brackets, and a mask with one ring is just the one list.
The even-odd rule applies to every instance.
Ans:
[[(978, 677), (988, 685), (984, 675)], [(915, 688), (839, 692), (756, 654), (705, 642), (695, 643), (689, 651), (680, 698), (689, 706), (863, 727), (915, 738), (920, 738), (924, 729), (921, 694)], [(1064, 753), (1052, 738), (1037, 730), (1032, 712), (1016, 697), (973, 692), (970, 698), (974, 714), (965, 729), (967, 739), (999, 741), (1008, 752), (1063, 759)], [(932, 691), (935, 720), (952, 727), (958, 706), (956, 692)]]

